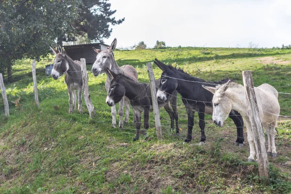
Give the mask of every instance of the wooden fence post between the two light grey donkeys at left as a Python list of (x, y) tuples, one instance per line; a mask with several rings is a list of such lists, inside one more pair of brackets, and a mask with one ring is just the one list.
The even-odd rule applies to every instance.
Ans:
[(81, 71), (82, 71), (82, 78), (83, 78), (83, 87), (84, 87), (84, 99), (89, 111), (89, 116), (91, 118), (92, 115), (95, 114), (94, 106), (91, 102), (90, 94), (89, 94), (89, 85), (88, 85), (88, 74), (86, 69), (86, 59), (81, 58)]

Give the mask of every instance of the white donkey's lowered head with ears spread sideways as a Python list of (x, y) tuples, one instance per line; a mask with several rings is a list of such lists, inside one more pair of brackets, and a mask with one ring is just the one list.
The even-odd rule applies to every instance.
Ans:
[(218, 85), (218, 88), (202, 85), (202, 87), (204, 87), (205, 89), (207, 89), (213, 94), (212, 120), (219, 127), (223, 126), (224, 121), (226, 120), (226, 118), (228, 117), (228, 114), (230, 113), (232, 109), (231, 102), (228, 96), (225, 94), (228, 88), (227, 84), (229, 84), (229, 82), (230, 80), (227, 81), (222, 86)]

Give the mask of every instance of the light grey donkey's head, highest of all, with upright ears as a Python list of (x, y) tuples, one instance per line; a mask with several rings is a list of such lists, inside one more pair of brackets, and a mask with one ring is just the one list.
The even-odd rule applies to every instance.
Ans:
[(98, 76), (100, 73), (105, 73), (106, 68), (111, 69), (114, 63), (113, 50), (116, 48), (116, 45), (117, 40), (114, 38), (110, 47), (106, 50), (101, 51), (93, 47), (95, 52), (97, 52), (96, 61), (92, 66), (92, 73), (94, 76)]

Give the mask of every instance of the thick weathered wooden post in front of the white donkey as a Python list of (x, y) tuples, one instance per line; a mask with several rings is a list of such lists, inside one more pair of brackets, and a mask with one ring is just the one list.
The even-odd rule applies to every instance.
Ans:
[(259, 176), (267, 178), (269, 181), (269, 162), (265, 147), (265, 135), (262, 123), (259, 117), (259, 109), (257, 106), (257, 98), (254, 90), (254, 83), (251, 71), (242, 71), (243, 85), (245, 86), (245, 94), (247, 98), (247, 114), (252, 126), (254, 143), (257, 153)]

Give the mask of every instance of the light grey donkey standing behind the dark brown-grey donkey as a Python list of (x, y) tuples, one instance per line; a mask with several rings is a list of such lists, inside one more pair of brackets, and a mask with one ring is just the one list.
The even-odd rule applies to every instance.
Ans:
[[(134, 80), (136, 82), (138, 81), (137, 80), (137, 71), (135, 70), (135, 68), (133, 66), (123, 65), (123, 66), (119, 67), (116, 64), (116, 61), (115, 61), (114, 55), (113, 55), (113, 51), (116, 48), (116, 45), (117, 45), (117, 40), (116, 40), (116, 38), (114, 38), (113, 42), (111, 43), (111, 46), (106, 50), (101, 51), (101, 50), (95, 49), (93, 47), (95, 52), (97, 52), (97, 57), (96, 57), (96, 61), (95, 61), (94, 65), (92, 66), (92, 72), (93, 72), (94, 76), (98, 76), (100, 73), (107, 74), (107, 79), (105, 82), (105, 88), (106, 88), (107, 93), (109, 91), (109, 86), (110, 86), (110, 82), (112, 80), (112, 77), (108, 75), (108, 73), (106, 72), (106, 68), (111, 69), (115, 73), (124, 73), (132, 80)], [(125, 104), (125, 108), (126, 108), (124, 122), (125, 123), (129, 122), (129, 99), (127, 97), (125, 97), (122, 100), (120, 100), (120, 102), (119, 102), (118, 114), (119, 114), (119, 128), (120, 129), (123, 128), (122, 117), (123, 117), (123, 105), (124, 104)], [(115, 128), (116, 127), (116, 108), (115, 108), (115, 105), (113, 105), (111, 107), (111, 115), (112, 115), (112, 127)], [(133, 117), (133, 121), (134, 121), (134, 117)]]

